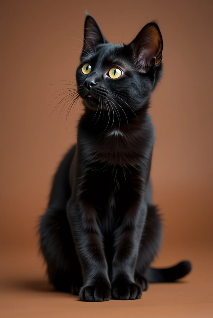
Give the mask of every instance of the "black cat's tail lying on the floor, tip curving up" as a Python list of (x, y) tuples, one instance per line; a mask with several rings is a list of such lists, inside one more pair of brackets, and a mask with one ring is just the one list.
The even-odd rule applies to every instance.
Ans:
[(150, 283), (166, 283), (178, 280), (191, 271), (191, 263), (183, 261), (168, 268), (149, 268), (146, 278)]

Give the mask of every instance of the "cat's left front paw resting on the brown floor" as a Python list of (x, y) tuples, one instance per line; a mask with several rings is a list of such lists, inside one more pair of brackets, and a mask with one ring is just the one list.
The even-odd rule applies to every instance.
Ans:
[(105, 284), (83, 286), (79, 296), (82, 301), (108, 301), (112, 298), (111, 290)]

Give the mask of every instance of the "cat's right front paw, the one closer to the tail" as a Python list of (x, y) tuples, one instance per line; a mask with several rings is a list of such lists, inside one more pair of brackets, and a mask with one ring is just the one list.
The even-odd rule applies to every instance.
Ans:
[(142, 296), (139, 284), (119, 281), (112, 284), (112, 298), (117, 300), (133, 300)]

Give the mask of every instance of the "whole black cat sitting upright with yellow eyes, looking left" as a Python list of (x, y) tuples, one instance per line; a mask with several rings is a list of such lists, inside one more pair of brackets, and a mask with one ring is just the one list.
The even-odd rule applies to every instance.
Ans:
[(86, 17), (76, 72), (85, 112), (39, 229), (50, 283), (83, 301), (139, 299), (148, 282), (190, 272), (188, 261), (149, 268), (161, 222), (149, 180), (155, 135), (147, 110), (162, 74), (162, 50), (155, 22), (129, 45), (114, 45)]

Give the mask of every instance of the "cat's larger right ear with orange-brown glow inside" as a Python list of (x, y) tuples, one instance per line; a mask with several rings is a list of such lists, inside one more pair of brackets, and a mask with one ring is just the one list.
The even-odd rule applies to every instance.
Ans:
[(159, 66), (162, 60), (163, 38), (158, 24), (146, 24), (129, 46), (140, 72), (147, 73), (150, 67)]

